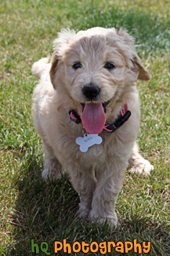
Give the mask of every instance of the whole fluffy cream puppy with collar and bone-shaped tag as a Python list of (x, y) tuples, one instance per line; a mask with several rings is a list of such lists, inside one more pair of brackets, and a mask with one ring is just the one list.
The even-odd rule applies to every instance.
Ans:
[(79, 216), (118, 224), (114, 212), (125, 171), (149, 174), (138, 153), (139, 95), (136, 80), (150, 80), (128, 33), (114, 28), (63, 30), (33, 94), (34, 127), (44, 147), (42, 177), (67, 170), (80, 197)]

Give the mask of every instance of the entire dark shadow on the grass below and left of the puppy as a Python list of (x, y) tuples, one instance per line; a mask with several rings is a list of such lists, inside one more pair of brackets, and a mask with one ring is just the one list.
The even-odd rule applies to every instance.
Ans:
[[(37, 159), (28, 157), (24, 176), (16, 176), (16, 186), (19, 195), (13, 215), (13, 239), (16, 243), (9, 245), (6, 255), (33, 255), (31, 252), (31, 239), (38, 243), (49, 243), (49, 250), (54, 254), (54, 241), (67, 239), (67, 243), (85, 241), (97, 243), (103, 241), (154, 241), (152, 251), (161, 255), (160, 247), (168, 244), (168, 232), (164, 227), (153, 224), (146, 217), (133, 216), (132, 220), (122, 220), (121, 226), (110, 230), (107, 223), (103, 225), (92, 224), (88, 220), (80, 220), (76, 216), (79, 198), (74, 191), (66, 174), (60, 180), (45, 182), (41, 176), (41, 165)], [(21, 173), (22, 173), (21, 170)], [(159, 241), (161, 241), (159, 244)], [(118, 255), (113, 249), (112, 255)], [(38, 255), (45, 255), (40, 253)], [(63, 251), (60, 252), (63, 254)], [(72, 253), (71, 255), (75, 255)], [(78, 255), (84, 255), (79, 253)], [(87, 254), (87, 255), (92, 255)], [(98, 254), (94, 254), (98, 255)], [(100, 255), (100, 254), (99, 254)], [(107, 255), (107, 254), (106, 254)], [(108, 255), (110, 255), (108, 253)], [(153, 254), (154, 255), (154, 254)], [(164, 255), (164, 254), (162, 254)]]

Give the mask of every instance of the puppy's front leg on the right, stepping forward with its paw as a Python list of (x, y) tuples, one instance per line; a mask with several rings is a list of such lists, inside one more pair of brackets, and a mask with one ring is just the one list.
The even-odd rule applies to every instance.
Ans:
[[(114, 212), (118, 193), (121, 190), (125, 177), (125, 166), (107, 165), (96, 169), (96, 190), (92, 198), (91, 219), (100, 223), (108, 220), (113, 226), (118, 224), (118, 218)], [(122, 171), (123, 170), (123, 171)]]

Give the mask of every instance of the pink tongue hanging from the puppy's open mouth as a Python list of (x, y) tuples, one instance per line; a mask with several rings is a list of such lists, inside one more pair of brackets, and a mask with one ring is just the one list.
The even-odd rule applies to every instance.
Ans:
[(106, 121), (102, 103), (86, 103), (81, 121), (86, 132), (91, 134), (102, 132)]

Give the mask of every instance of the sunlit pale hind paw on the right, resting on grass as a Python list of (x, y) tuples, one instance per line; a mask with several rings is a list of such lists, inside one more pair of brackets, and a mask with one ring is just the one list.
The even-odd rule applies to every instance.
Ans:
[(139, 173), (144, 175), (150, 175), (150, 171), (154, 170), (154, 166), (150, 165), (150, 162), (144, 158), (136, 158), (133, 161), (133, 165), (129, 171), (131, 173)]

